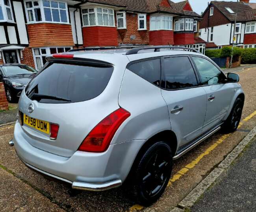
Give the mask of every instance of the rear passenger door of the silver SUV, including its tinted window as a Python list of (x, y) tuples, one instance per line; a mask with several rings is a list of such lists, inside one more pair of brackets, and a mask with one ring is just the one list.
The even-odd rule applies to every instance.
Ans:
[(180, 146), (202, 133), (206, 114), (206, 92), (198, 86), (188, 56), (162, 57), (162, 96), (167, 103), (171, 128)]

